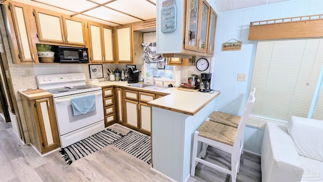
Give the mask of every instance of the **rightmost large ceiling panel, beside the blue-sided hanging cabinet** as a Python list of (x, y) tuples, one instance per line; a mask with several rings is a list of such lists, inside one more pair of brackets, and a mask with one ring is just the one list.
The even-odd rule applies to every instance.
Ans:
[(156, 6), (146, 0), (118, 0), (105, 5), (143, 20), (156, 18)]

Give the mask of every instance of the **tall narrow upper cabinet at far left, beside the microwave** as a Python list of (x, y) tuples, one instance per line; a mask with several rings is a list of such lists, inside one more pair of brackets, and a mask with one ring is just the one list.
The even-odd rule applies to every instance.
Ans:
[(9, 3), (7, 6), (8, 17), (11, 27), (10, 29), (14, 47), (12, 54), (16, 59), (13, 59), (15, 64), (35, 64), (38, 63), (36, 44), (32, 43), (32, 39), (36, 38), (31, 33), (32, 28), (35, 27), (35, 21), (30, 21), (32, 17), (32, 10), (19, 3)]

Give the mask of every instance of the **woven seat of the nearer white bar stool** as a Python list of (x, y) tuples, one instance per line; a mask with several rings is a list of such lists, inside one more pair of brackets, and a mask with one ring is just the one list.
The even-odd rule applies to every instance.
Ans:
[(225, 124), (220, 124), (213, 121), (205, 121), (197, 129), (198, 136), (206, 139), (221, 142), (233, 146), (234, 140), (237, 137), (238, 129)]

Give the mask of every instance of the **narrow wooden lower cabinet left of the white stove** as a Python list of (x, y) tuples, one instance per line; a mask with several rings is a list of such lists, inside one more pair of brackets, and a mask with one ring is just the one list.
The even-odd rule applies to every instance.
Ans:
[(60, 148), (52, 97), (32, 99), (21, 95), (30, 143), (41, 154)]

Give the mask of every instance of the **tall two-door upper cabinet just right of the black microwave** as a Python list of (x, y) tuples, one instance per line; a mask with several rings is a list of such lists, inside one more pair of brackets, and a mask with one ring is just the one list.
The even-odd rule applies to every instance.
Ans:
[(88, 23), (91, 63), (114, 63), (112, 28)]

